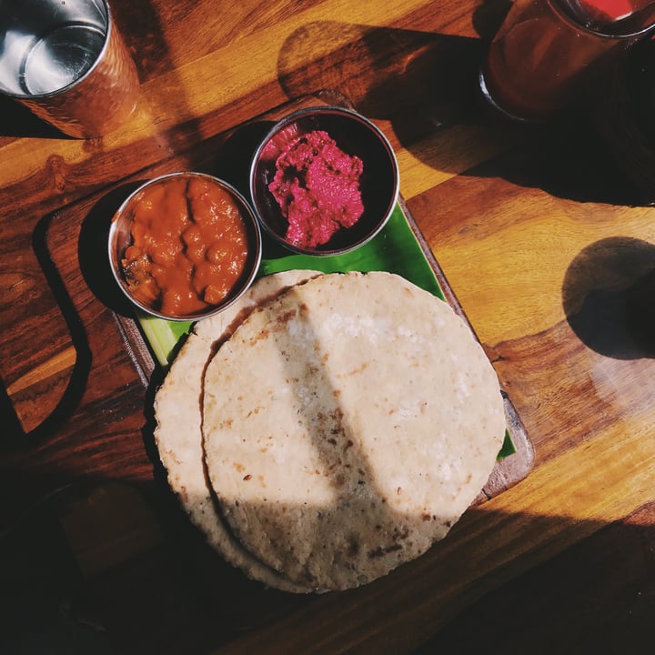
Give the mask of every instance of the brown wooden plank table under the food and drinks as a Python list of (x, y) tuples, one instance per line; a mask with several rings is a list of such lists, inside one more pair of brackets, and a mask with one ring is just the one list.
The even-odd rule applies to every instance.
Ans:
[[(111, 4), (142, 81), (126, 126), (68, 139), (2, 103), (0, 645), (428, 653), (648, 643), (655, 208), (600, 136), (602, 119), (526, 128), (479, 104), (479, 62), (507, 3)], [(396, 148), (402, 196), (535, 459), (422, 558), (365, 588), (305, 597), (230, 569), (167, 494), (145, 436), (156, 380), (126, 351), (86, 248), (100, 247), (101, 217), (127, 182), (193, 166), (225, 131), (321, 89), (348, 96)], [(84, 225), (70, 225), (85, 208)], [(77, 275), (90, 294), (71, 289)]]

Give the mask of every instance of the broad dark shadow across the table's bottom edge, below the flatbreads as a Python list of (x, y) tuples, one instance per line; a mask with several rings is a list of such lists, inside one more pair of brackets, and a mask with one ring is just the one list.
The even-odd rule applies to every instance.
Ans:
[[(307, 610), (333, 625), (335, 648), (357, 639), (348, 625), (361, 621), (362, 630), (375, 634), (376, 612), (387, 616), (393, 625), (380, 653), (409, 652), (423, 620), (432, 634), (442, 628), (424, 654), (589, 652), (593, 645), (599, 652), (636, 652), (630, 644), (654, 636), (655, 577), (647, 575), (655, 570), (652, 505), (609, 525), (470, 509), (447, 539), (386, 578), (305, 596), (246, 579), (207, 547), (175, 499), (154, 491), (116, 483), (64, 489), (0, 535), (3, 653), (200, 654)], [(483, 543), (485, 533), (498, 530), (519, 530), (530, 540), (567, 530), (591, 536), (519, 583), (506, 582), (480, 598), (481, 589), (489, 589), (485, 575), (494, 573), (476, 579), (476, 571), (502, 554), (467, 542)], [(548, 551), (547, 539), (541, 547)], [(530, 548), (539, 558), (539, 543)], [(468, 558), (477, 553), (467, 566), (459, 549)], [(510, 579), (523, 565), (508, 566), (516, 567), (503, 573)], [(453, 570), (467, 579), (453, 579)], [(469, 609), (458, 616), (445, 608), (445, 590)], [(392, 600), (398, 597), (406, 600), (398, 605)], [(432, 602), (437, 609), (429, 610)], [(377, 610), (371, 614), (371, 608)], [(412, 631), (403, 634), (403, 626)], [(330, 649), (329, 638), (323, 646)]]

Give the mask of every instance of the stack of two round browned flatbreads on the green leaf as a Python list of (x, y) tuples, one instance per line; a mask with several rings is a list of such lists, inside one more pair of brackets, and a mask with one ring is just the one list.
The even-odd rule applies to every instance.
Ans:
[(403, 277), (288, 271), (196, 324), (156, 393), (192, 521), (251, 578), (350, 589), (442, 539), (505, 434), (467, 324)]

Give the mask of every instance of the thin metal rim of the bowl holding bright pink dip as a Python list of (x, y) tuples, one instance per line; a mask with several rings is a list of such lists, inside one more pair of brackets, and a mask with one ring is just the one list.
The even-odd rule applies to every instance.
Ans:
[[(356, 241), (355, 243), (351, 244), (348, 247), (339, 247), (339, 248), (326, 249), (326, 250), (312, 250), (312, 249), (296, 247), (293, 244), (289, 243), (284, 237), (279, 235), (272, 227), (268, 225), (267, 220), (264, 217), (262, 217), (261, 211), (257, 203), (257, 177), (256, 177), (257, 164), (259, 163), (260, 156), (264, 148), (266, 148), (269, 141), (274, 136), (276, 136), (277, 133), (281, 132), (285, 127), (291, 125), (292, 123), (297, 122), (299, 119), (303, 118), (304, 116), (310, 116), (313, 114), (348, 116), (350, 118), (355, 119), (359, 124), (368, 127), (368, 129), (371, 130), (371, 132), (373, 132), (373, 134), (375, 134), (375, 136), (378, 137), (378, 140), (380, 141), (384, 149), (387, 151), (388, 159), (392, 167), (394, 188), (388, 203), (388, 207), (385, 210), (384, 218), (380, 220), (378, 224), (376, 224), (376, 227), (373, 230), (371, 230), (366, 237), (359, 239), (358, 241)], [(398, 203), (398, 196), (400, 192), (400, 175), (398, 169), (398, 158), (396, 157), (396, 153), (393, 147), (391, 146), (391, 144), (389, 143), (387, 136), (385, 136), (382, 130), (380, 130), (380, 128), (371, 120), (369, 120), (366, 116), (362, 116), (361, 114), (359, 114), (357, 111), (353, 109), (348, 109), (347, 107), (340, 107), (340, 106), (333, 106), (333, 105), (304, 107), (302, 109), (297, 109), (297, 111), (292, 112), (288, 116), (285, 116), (284, 118), (281, 118), (279, 121), (277, 121), (277, 123), (273, 127), (271, 127), (271, 129), (267, 132), (266, 136), (264, 136), (264, 138), (261, 140), (259, 146), (257, 146), (257, 150), (255, 151), (255, 154), (253, 155), (250, 163), (248, 180), (249, 180), (250, 199), (252, 203), (252, 208), (255, 213), (255, 217), (257, 217), (257, 220), (259, 221), (260, 227), (264, 229), (264, 231), (267, 233), (268, 236), (272, 237), (278, 244), (280, 244), (283, 247), (286, 247), (291, 252), (297, 253), (298, 255), (307, 255), (312, 257), (333, 257), (335, 255), (343, 255), (348, 252), (352, 252), (353, 250), (356, 250), (358, 247), (364, 246), (373, 237), (378, 236), (379, 232), (383, 229), (383, 227), (387, 225), (388, 219), (393, 214), (394, 208)]]

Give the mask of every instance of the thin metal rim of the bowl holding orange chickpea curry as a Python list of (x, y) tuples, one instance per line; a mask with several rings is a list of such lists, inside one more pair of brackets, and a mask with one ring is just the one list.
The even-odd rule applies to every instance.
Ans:
[[(203, 179), (207, 179), (213, 184), (217, 184), (218, 186), (221, 186), (224, 189), (226, 189), (227, 192), (229, 192), (229, 194), (233, 196), (233, 198), (237, 202), (237, 205), (242, 210), (242, 212), (244, 212), (247, 215), (247, 217), (244, 217), (244, 220), (249, 224), (247, 225), (248, 235), (250, 237), (254, 237), (253, 238), (254, 243), (248, 244), (249, 248), (254, 247), (254, 252), (248, 253), (248, 262), (251, 263), (251, 266), (249, 267), (247, 271), (247, 275), (243, 279), (243, 282), (238, 287), (237, 292), (234, 293), (231, 297), (229, 297), (229, 299), (226, 302), (221, 303), (216, 307), (209, 307), (205, 312), (201, 312), (199, 314), (192, 314), (184, 317), (166, 316), (166, 314), (162, 314), (161, 312), (156, 311), (156, 309), (153, 309), (152, 307), (147, 307), (142, 302), (137, 300), (136, 297), (134, 297), (126, 287), (125, 279), (120, 273), (120, 264), (118, 261), (119, 257), (118, 257), (118, 253), (116, 252), (116, 247), (117, 247), (116, 238), (117, 238), (117, 231), (118, 231), (117, 226), (118, 226), (119, 217), (121, 217), (124, 214), (126, 208), (135, 199), (135, 197), (138, 196), (141, 192), (143, 192), (147, 187), (160, 184), (162, 181), (169, 179), (171, 177), (200, 177)], [(219, 314), (220, 312), (227, 309), (227, 307), (233, 305), (235, 302), (237, 302), (238, 298), (240, 298), (246, 293), (247, 289), (255, 281), (262, 258), (262, 239), (261, 239), (261, 229), (259, 227), (259, 221), (257, 220), (257, 216), (255, 215), (255, 212), (253, 211), (252, 207), (250, 207), (250, 205), (248, 204), (246, 197), (243, 196), (243, 194), (241, 194), (234, 186), (232, 186), (225, 180), (220, 179), (219, 177), (216, 176), (209, 175), (207, 173), (197, 173), (195, 171), (179, 171), (176, 173), (166, 173), (165, 175), (162, 176), (153, 177), (152, 179), (148, 180), (147, 182), (144, 182), (144, 184), (139, 185), (134, 191), (132, 191), (126, 197), (126, 199), (121, 203), (120, 207), (118, 207), (118, 209), (114, 213), (114, 216), (112, 217), (112, 222), (109, 227), (107, 247), (108, 247), (108, 255), (109, 255), (109, 265), (111, 267), (112, 274), (114, 276), (114, 279), (116, 280), (116, 284), (121, 289), (123, 294), (127, 297), (127, 299), (133, 305), (135, 305), (142, 311), (146, 312), (146, 314), (148, 314), (149, 316), (156, 317), (156, 318), (163, 318), (164, 320), (168, 320), (168, 321), (186, 321), (186, 322), (196, 321), (199, 320), (200, 318), (215, 316), (216, 314)]]

